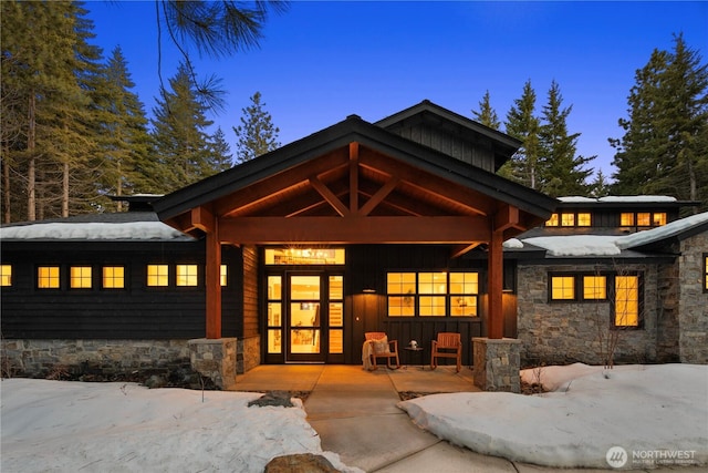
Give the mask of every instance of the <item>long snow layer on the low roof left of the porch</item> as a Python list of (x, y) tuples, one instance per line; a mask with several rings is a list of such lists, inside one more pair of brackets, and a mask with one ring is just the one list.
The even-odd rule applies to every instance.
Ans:
[(192, 240), (162, 222), (50, 223), (0, 228), (0, 239)]

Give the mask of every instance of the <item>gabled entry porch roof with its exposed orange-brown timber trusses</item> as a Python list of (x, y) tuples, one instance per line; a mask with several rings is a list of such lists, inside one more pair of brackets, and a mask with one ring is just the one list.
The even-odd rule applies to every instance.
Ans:
[(489, 241), (492, 230), (508, 237), (540, 224), (552, 210), (550, 200), (350, 117), (169, 195), (156, 209), (185, 233), (216, 229), (221, 243), (237, 245), (436, 243), (471, 248)]

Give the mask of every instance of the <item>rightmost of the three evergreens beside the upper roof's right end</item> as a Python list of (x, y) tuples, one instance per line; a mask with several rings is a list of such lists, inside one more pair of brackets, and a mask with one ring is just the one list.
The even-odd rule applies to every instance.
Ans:
[(563, 107), (560, 86), (553, 81), (539, 130), (542, 167), (540, 189), (553, 197), (586, 195), (589, 191), (586, 178), (592, 174), (592, 168), (585, 169), (583, 165), (595, 156), (575, 155), (580, 133), (569, 134), (566, 124), (572, 109), (572, 105)]

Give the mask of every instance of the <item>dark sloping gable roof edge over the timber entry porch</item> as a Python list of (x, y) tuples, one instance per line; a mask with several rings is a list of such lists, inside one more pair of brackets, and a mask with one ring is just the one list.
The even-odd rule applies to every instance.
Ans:
[[(426, 104), (426, 109), (431, 107), (437, 106)], [(431, 176), (514, 206), (533, 216), (538, 220), (537, 224), (546, 219), (558, 203), (539, 192), (404, 138), (356, 115), (350, 115), (346, 120), (310, 136), (176, 191), (155, 202), (154, 208), (163, 220), (175, 218), (191, 208), (244, 189), (270, 176), (313, 162), (327, 153), (347, 148), (351, 143), (358, 143)]]

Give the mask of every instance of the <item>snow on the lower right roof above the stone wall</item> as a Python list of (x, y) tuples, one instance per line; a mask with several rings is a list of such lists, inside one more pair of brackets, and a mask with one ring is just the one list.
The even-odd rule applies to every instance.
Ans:
[[(538, 246), (548, 251), (548, 256), (617, 256), (623, 249), (636, 248), (650, 243), (671, 238), (698, 225), (708, 223), (708, 212), (662, 227), (637, 232), (632, 235), (566, 235), (532, 237), (520, 240), (522, 244)], [(522, 248), (516, 238), (504, 241), (504, 248)], [(519, 241), (519, 240), (517, 240)]]

